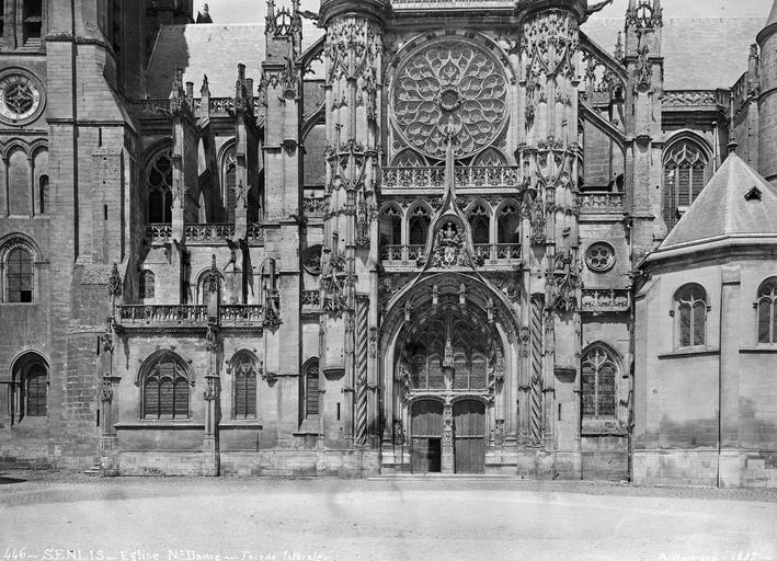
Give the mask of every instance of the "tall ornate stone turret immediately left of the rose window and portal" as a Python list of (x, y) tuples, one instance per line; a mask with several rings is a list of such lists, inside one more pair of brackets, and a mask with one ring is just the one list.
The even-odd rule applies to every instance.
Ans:
[[(354, 444), (380, 440), (379, 366), (370, 348), (377, 329), (377, 178), (380, 147), (382, 0), (323, 0), (327, 28), (325, 112), (327, 179), (324, 251), (331, 260), (322, 275), (328, 341), (342, 336), (345, 388), (353, 388)], [(356, 295), (364, 295), (359, 304)], [(341, 335), (342, 334), (342, 335)], [(377, 336), (377, 331), (376, 331)], [(336, 359), (339, 353), (329, 351)]]

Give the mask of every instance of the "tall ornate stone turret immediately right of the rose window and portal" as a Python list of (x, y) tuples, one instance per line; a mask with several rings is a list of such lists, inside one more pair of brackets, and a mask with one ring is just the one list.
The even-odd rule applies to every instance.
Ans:
[[(521, 115), (524, 240), (530, 267), (524, 305), (529, 310), (528, 442), (555, 449), (556, 371), (576, 369), (578, 302), (579, 0), (526, 3), (522, 21)], [(537, 256), (535, 256), (537, 255)], [(560, 264), (563, 264), (561, 266)], [(563, 275), (560, 272), (563, 271)]]

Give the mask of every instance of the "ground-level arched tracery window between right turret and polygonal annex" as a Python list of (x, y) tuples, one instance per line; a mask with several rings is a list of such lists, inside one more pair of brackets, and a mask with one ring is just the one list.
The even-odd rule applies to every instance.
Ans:
[(610, 352), (602, 345), (594, 345), (583, 354), (581, 366), (583, 417), (615, 416), (618, 365)]

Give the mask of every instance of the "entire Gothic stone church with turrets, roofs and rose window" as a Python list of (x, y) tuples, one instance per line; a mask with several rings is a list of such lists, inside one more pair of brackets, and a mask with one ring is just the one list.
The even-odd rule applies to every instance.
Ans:
[(0, 0), (0, 461), (777, 486), (777, 1), (288, 2)]

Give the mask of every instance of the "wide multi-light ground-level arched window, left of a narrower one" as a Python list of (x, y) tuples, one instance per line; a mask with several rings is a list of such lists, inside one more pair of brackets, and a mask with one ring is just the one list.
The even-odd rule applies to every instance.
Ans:
[(188, 371), (181, 357), (163, 353), (144, 365), (142, 419), (188, 419)]

